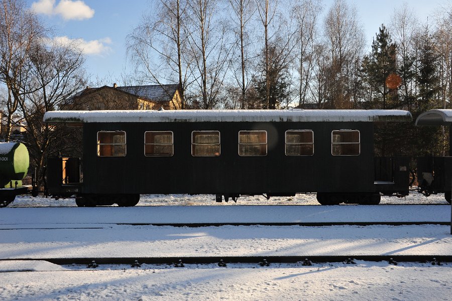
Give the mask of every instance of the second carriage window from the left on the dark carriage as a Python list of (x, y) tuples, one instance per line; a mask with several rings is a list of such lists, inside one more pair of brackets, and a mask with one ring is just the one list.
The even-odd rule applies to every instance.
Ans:
[(171, 157), (173, 154), (173, 132), (145, 132), (146, 157)]

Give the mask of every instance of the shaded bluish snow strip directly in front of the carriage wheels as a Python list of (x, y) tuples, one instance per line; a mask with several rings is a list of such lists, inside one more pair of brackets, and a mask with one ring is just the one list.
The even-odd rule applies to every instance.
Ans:
[(416, 225), (450, 223), (450, 205), (430, 206), (145, 206), (132, 208), (3, 208), (2, 225), (123, 224)]

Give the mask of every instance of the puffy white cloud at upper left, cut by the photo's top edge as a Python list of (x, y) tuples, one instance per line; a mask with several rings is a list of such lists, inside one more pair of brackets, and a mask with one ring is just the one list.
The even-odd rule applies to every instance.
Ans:
[(61, 0), (55, 6), (55, 0), (39, 0), (32, 4), (37, 14), (60, 15), (64, 20), (84, 20), (94, 16), (94, 10), (80, 0)]

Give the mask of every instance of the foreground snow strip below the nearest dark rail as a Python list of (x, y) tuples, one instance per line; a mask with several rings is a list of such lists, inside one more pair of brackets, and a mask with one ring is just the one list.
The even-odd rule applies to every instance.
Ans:
[(47, 271), (0, 273), (0, 299), (425, 301), (452, 295), (450, 264), (120, 265), (83, 271), (79, 266), (28, 266)]

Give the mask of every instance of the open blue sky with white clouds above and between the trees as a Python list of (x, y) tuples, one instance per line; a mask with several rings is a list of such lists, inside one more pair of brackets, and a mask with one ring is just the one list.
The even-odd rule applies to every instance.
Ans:
[[(103, 84), (121, 82), (121, 73), (130, 71), (126, 60), (126, 36), (139, 23), (149, 3), (155, 0), (26, 0), (61, 39), (82, 39), (86, 67), (91, 80)], [(290, 0), (279, 0), (280, 3)], [(333, 0), (323, 0), (325, 11)], [(382, 23), (389, 23), (395, 8), (404, 2), (425, 22), (447, 0), (349, 0), (358, 10), (369, 47)], [(109, 82), (112, 81), (112, 82)]]

